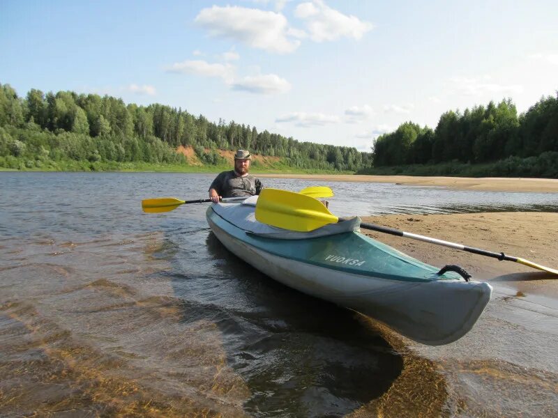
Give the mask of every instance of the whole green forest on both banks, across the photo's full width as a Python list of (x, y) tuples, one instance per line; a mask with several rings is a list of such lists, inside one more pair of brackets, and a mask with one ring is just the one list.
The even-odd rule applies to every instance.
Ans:
[[(203, 167), (191, 167), (179, 146), (191, 146)], [(520, 115), (506, 99), (447, 111), (435, 129), (405, 122), (370, 146), (299, 142), (108, 95), (31, 89), (20, 97), (0, 84), (0, 168), (17, 170), (218, 171), (227, 161), (217, 150), (246, 148), (278, 157), (256, 170), (558, 178), (558, 95)]]

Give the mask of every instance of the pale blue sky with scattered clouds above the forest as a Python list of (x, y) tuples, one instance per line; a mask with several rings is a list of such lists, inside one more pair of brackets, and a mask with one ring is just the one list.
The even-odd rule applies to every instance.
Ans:
[(558, 90), (557, 1), (0, 0), (0, 83), (158, 102), (369, 150)]

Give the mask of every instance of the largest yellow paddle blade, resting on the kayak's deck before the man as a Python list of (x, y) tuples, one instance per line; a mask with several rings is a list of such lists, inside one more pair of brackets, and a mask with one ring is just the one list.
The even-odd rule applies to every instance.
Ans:
[(319, 200), (279, 189), (262, 190), (257, 199), (255, 217), (264, 224), (300, 232), (313, 231), (338, 221), (338, 217)]

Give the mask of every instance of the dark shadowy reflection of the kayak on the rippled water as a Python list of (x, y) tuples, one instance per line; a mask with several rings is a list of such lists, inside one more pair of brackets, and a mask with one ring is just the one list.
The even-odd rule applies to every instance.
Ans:
[(269, 279), (213, 233), (206, 244), (227, 286), (244, 295), (219, 327), (227, 362), (250, 390), (247, 412), (344, 415), (381, 396), (400, 374), (400, 356), (358, 314)]

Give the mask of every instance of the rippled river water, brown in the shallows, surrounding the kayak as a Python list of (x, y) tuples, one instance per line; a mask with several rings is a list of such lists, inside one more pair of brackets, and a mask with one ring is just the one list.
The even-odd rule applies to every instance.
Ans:
[[(483, 380), (444, 373), (440, 353), (460, 350), (459, 341), (430, 358), (411, 353), (368, 318), (276, 283), (216, 240), (207, 203), (141, 210), (148, 197), (205, 198), (212, 179), (0, 173), (0, 416), (555, 413), (552, 366), (534, 404), (524, 399), (518, 410), (511, 395), (495, 412)], [(557, 194), (264, 185), (329, 185), (339, 216), (558, 210)]]

